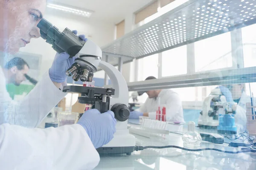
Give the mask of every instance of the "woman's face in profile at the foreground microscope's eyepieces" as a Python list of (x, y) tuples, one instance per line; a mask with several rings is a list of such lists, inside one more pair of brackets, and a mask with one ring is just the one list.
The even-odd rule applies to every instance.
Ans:
[(45, 8), (46, 0), (0, 0), (0, 51), (13, 54), (39, 38)]

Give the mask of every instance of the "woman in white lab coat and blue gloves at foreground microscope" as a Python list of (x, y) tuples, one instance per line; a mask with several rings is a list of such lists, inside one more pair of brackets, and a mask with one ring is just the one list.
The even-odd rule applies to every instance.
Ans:
[[(14, 54), (32, 38), (46, 9), (46, 0), (0, 0), (0, 51)], [(75, 34), (77, 31), (73, 31)], [(86, 41), (84, 35), (79, 37)], [(74, 63), (66, 53), (56, 54), (49, 71), (20, 102), (6, 91), (7, 77), (0, 67), (0, 165), (3, 170), (93, 169), (99, 163), (96, 148), (113, 139), (116, 119), (111, 111), (89, 110), (75, 125), (38, 129), (65, 95), (65, 71)]]

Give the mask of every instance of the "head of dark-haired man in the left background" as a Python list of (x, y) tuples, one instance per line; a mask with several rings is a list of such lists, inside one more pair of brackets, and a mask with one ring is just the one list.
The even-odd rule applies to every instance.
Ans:
[(20, 85), (21, 82), (26, 80), (25, 74), (27, 74), (28, 71), (28, 63), (24, 59), (19, 57), (11, 59), (9, 62), (6, 63), (5, 67), (3, 68), (3, 74), (6, 78), (6, 83), (13, 83), (17, 86)]

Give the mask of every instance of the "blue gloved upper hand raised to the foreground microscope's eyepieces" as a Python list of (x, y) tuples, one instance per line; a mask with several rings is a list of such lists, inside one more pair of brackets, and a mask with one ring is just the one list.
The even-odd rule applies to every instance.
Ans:
[[(77, 34), (77, 31), (72, 31), (74, 34)], [(79, 37), (87, 41), (85, 35), (79, 35)], [(52, 82), (64, 82), (66, 81), (67, 75), (66, 70), (71, 67), (71, 65), (75, 62), (75, 57), (69, 58), (70, 55), (66, 52), (61, 54), (56, 53), (55, 58), (52, 63), (52, 67), (49, 69), (49, 76)]]

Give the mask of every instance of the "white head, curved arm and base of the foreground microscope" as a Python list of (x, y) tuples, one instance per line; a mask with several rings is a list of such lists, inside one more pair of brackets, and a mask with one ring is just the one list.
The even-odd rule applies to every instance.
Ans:
[[(101, 60), (102, 51), (92, 41), (87, 40), (84, 46), (81, 48), (79, 53), (79, 60), (75, 62), (79, 63), (81, 69), (88, 68), (88, 72), (91, 73), (96, 71), (90, 68), (102, 68), (111, 79), (112, 88), (115, 90), (114, 95), (111, 96), (109, 103), (109, 110), (113, 109), (115, 104), (124, 104), (128, 106), (129, 93), (128, 87), (122, 74), (111, 64)], [(89, 79), (88, 79), (89, 80)], [(118, 113), (115, 113), (115, 116)], [(129, 134), (128, 121), (125, 120), (116, 122), (116, 133), (114, 138), (104, 146), (97, 149), (99, 153), (126, 153), (130, 155), (135, 146), (135, 137)]]

